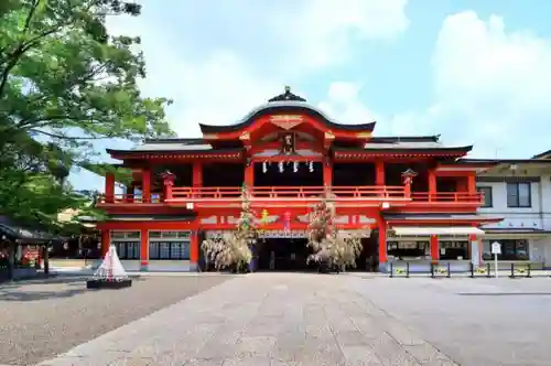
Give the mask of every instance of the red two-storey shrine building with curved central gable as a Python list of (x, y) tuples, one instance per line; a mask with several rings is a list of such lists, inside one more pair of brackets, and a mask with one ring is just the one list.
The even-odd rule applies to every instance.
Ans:
[(109, 215), (98, 225), (102, 250), (115, 245), (127, 269), (196, 270), (201, 241), (235, 229), (244, 184), (262, 230), (259, 269), (305, 266), (309, 215), (326, 189), (336, 227), (363, 233), (361, 270), (444, 256), (476, 265), (480, 227), (500, 220), (477, 214), (476, 175), (491, 164), (465, 160), (471, 146), (379, 137), (376, 122), (339, 123), (289, 87), (237, 123), (199, 127), (199, 138), (107, 150), (132, 171), (125, 194), (108, 174), (98, 203)]

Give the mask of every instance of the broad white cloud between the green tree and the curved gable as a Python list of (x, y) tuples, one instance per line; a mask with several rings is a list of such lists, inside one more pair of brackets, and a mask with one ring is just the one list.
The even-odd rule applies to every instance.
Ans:
[(234, 122), (283, 85), (346, 61), (350, 37), (397, 36), (408, 26), (406, 3), (174, 0), (163, 7), (171, 13), (155, 15), (159, 7), (150, 0), (141, 17), (116, 19), (109, 29), (142, 36), (148, 68), (142, 90), (175, 100), (172, 126), (185, 137), (198, 133), (197, 122)]

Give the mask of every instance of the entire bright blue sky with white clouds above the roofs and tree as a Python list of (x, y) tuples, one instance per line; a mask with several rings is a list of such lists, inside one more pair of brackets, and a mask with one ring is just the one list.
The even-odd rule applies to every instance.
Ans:
[[(551, 149), (549, 1), (139, 2), (141, 17), (109, 29), (141, 35), (142, 92), (175, 100), (181, 137), (199, 136), (198, 122), (230, 123), (291, 85), (344, 123), (377, 120), (378, 136), (441, 133), (450, 146), (474, 143), (476, 158)], [(90, 173), (72, 182), (102, 186)]]

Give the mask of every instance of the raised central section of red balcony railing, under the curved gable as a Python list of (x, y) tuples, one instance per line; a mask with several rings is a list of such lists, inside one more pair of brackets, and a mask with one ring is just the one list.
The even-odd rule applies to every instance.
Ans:
[[(253, 198), (320, 198), (325, 192), (323, 186), (256, 186), (250, 189)], [(404, 198), (403, 186), (334, 186), (331, 192), (337, 198)], [(172, 197), (176, 200), (238, 200), (240, 187), (173, 187)]]

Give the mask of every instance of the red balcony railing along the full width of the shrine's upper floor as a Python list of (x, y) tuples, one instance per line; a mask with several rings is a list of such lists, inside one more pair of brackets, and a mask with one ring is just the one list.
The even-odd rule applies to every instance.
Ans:
[[(250, 189), (255, 201), (296, 202), (317, 201), (325, 192), (323, 186), (256, 186)], [(412, 192), (404, 186), (333, 186), (331, 192), (341, 202), (402, 202), (408, 204), (471, 204), (479, 205), (483, 196), (467, 192)], [(118, 194), (114, 197), (101, 197), (99, 204), (164, 204), (179, 202), (237, 202), (241, 196), (241, 187), (172, 187), (166, 196), (151, 194), (149, 200), (141, 195)]]

